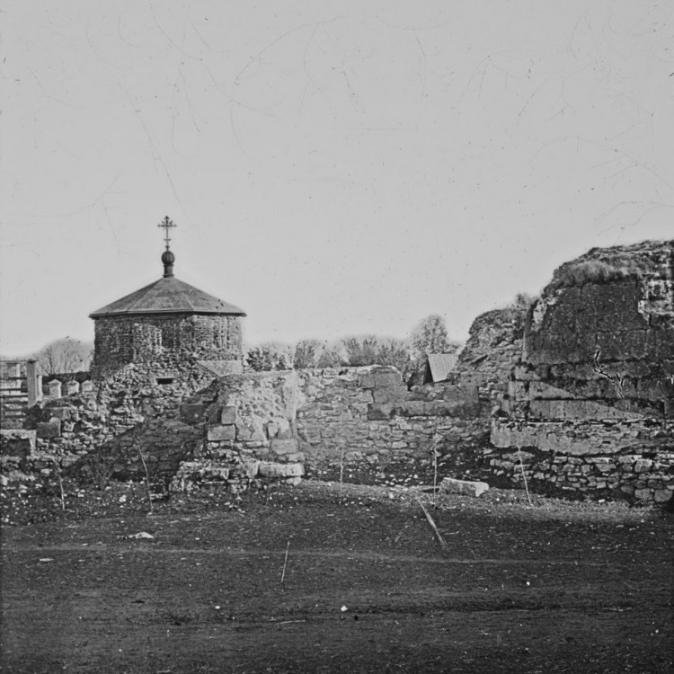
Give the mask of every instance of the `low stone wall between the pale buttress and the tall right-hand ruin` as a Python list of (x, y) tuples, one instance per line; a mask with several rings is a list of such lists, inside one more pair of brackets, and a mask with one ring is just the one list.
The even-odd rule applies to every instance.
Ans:
[(339, 463), (343, 453), (347, 466), (407, 461), (421, 469), (431, 465), (434, 448), (444, 465), (454, 455), (479, 453), (486, 437), (474, 386), (408, 391), (400, 373), (384, 367), (306, 371), (302, 385), (297, 424), (313, 468)]

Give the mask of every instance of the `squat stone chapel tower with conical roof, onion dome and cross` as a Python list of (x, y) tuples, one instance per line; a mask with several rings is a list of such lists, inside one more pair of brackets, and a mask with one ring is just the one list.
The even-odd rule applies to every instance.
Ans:
[(173, 222), (164, 218), (164, 276), (89, 315), (95, 339), (93, 371), (111, 374), (134, 364), (182, 369), (200, 362), (221, 374), (242, 369), (244, 311), (173, 276)]

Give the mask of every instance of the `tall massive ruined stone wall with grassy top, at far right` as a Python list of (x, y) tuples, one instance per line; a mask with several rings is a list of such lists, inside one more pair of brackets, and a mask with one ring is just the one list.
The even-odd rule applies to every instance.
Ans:
[(497, 475), (521, 483), (524, 468), (542, 490), (670, 500), (673, 260), (674, 244), (647, 242), (555, 272), (493, 420)]

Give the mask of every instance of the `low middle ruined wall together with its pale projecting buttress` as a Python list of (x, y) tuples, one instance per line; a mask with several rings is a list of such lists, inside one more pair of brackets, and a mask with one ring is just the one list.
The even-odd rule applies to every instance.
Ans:
[(345, 368), (224, 377), (208, 409), (212, 457), (301, 463), (309, 471), (407, 462), (480, 452), (488, 421), (477, 389), (424, 386), (408, 392), (395, 368)]

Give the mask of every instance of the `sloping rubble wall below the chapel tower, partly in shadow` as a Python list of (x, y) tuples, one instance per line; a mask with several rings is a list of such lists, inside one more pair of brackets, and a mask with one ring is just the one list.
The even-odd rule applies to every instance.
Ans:
[[(137, 478), (145, 475), (140, 449), (152, 476), (174, 474), (183, 460), (199, 454), (204, 434), (203, 426), (181, 420), (180, 404), (214, 375), (195, 359), (164, 366), (131, 364), (84, 393), (36, 405), (26, 424), (36, 436), (31, 451), (5, 453), (0, 472), (12, 478), (51, 471), (58, 459), (101, 482)], [(171, 383), (157, 384), (162, 378)]]

